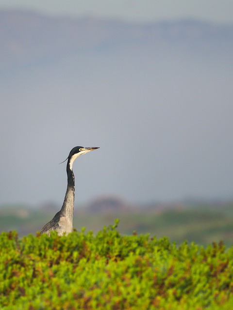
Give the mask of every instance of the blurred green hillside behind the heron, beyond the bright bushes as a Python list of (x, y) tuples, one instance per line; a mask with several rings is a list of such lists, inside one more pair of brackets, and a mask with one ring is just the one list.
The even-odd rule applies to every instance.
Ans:
[[(34, 210), (24, 206), (0, 208), (0, 232), (16, 230), (20, 236), (35, 234), (59, 211), (58, 208)], [(233, 246), (233, 202), (219, 204), (170, 205), (131, 207), (120, 210), (97, 210), (75, 207), (74, 228), (97, 233), (103, 226), (119, 218), (122, 234), (150, 233), (151, 236), (169, 237), (178, 244), (184, 240), (206, 246), (223, 241)]]

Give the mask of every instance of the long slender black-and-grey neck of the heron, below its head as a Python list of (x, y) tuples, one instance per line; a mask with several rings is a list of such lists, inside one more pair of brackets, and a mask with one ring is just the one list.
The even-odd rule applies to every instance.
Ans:
[(69, 160), (67, 162), (67, 192), (62, 205), (61, 212), (67, 219), (73, 223), (74, 211), (74, 173), (72, 166), (70, 167)]

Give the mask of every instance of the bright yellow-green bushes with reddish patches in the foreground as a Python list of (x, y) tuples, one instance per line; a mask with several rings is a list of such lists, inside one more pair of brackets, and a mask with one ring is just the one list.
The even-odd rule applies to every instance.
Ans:
[(233, 248), (178, 247), (117, 224), (96, 235), (1, 233), (0, 309), (233, 309)]

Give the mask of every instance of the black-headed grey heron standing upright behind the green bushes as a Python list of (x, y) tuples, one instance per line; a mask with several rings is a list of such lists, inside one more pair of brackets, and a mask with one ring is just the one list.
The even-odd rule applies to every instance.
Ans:
[(73, 163), (76, 158), (87, 152), (99, 149), (99, 147), (75, 146), (69, 153), (67, 159), (67, 191), (62, 208), (55, 216), (45, 224), (40, 233), (47, 233), (50, 236), (51, 231), (57, 231), (59, 236), (67, 235), (73, 231), (73, 211), (74, 211), (74, 194), (75, 181), (73, 173)]

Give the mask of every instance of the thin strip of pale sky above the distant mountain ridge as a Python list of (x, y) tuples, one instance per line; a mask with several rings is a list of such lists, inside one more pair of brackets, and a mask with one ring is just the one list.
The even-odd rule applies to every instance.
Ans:
[(1, 0), (0, 8), (33, 9), (50, 14), (95, 15), (127, 20), (157, 21), (194, 17), (233, 21), (232, 0)]

